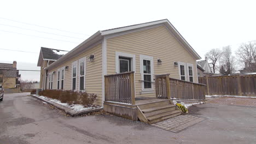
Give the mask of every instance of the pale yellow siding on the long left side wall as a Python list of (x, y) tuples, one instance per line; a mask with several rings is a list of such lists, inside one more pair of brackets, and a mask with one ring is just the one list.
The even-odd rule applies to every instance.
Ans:
[[(88, 58), (91, 54), (94, 54), (94, 62), (89, 62)], [(92, 47), (89, 50), (81, 53), (79, 56), (72, 58), (70, 61), (65, 62), (55, 69), (49, 70), (56, 71), (53, 81), (53, 89), (57, 89), (57, 69), (69, 67), (68, 70), (65, 70), (65, 79), (64, 79), (64, 89), (70, 90), (72, 88), (72, 62), (78, 61), (78, 59), (86, 57), (86, 75), (85, 75), (85, 90), (88, 93), (97, 94), (97, 105), (102, 105), (102, 45), (98, 44)], [(77, 79), (78, 86), (78, 79)]]

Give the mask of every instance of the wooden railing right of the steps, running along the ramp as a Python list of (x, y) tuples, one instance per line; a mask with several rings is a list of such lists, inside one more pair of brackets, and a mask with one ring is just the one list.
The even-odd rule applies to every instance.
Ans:
[(155, 76), (156, 98), (205, 99), (205, 85), (170, 78), (168, 74)]

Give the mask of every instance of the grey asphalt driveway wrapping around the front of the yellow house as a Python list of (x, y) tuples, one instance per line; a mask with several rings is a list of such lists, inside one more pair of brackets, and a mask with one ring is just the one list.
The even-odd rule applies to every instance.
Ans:
[(256, 143), (253, 106), (192, 106), (189, 115), (205, 120), (172, 133), (112, 115), (66, 117), (26, 95), (0, 102), (0, 143)]

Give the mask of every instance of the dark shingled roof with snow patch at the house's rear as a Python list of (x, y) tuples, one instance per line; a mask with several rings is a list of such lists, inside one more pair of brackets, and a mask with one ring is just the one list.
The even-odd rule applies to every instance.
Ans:
[(50, 48), (46, 48), (46, 47), (41, 47), (41, 50), (42, 50), (43, 59), (53, 59), (53, 60), (57, 60), (63, 56), (63, 55), (59, 55), (58, 53), (56, 53), (54, 51), (68, 52), (68, 51), (63, 51), (63, 50), (50, 49)]

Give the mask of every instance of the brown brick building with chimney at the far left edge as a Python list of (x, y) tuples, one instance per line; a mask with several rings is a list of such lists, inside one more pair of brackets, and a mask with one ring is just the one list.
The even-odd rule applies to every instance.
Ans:
[(19, 70), (17, 70), (17, 62), (0, 63), (0, 83), (4, 88), (16, 88), (19, 85)]

